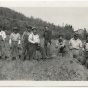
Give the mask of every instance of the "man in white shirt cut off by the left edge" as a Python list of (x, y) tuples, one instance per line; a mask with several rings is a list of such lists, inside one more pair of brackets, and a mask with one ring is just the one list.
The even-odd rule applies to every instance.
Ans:
[(4, 47), (5, 47), (5, 39), (6, 39), (6, 33), (2, 30), (2, 27), (0, 27), (0, 59), (5, 58), (4, 55)]

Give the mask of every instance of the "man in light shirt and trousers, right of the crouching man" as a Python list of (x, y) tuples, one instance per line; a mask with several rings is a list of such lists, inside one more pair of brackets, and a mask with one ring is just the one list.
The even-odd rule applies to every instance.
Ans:
[(69, 41), (70, 55), (73, 58), (78, 58), (80, 51), (82, 50), (82, 41), (79, 39), (77, 33), (74, 34), (74, 38)]

